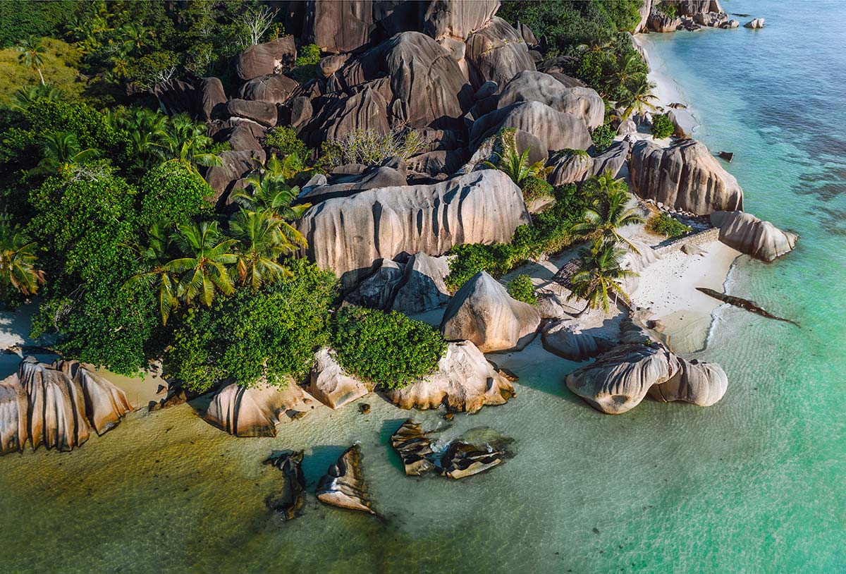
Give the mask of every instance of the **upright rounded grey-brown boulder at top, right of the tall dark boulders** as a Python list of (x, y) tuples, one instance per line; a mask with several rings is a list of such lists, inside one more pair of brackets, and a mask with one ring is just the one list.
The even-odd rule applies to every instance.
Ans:
[(525, 69), (535, 69), (529, 47), (508, 22), (494, 16), (467, 40), (470, 82), (478, 90), (487, 80), (503, 86)]

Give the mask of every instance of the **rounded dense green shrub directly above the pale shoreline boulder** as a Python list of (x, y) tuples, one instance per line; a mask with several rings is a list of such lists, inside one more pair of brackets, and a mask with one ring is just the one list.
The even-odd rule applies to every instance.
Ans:
[(332, 346), (349, 373), (384, 389), (401, 389), (437, 370), (447, 343), (436, 330), (400, 312), (342, 307)]

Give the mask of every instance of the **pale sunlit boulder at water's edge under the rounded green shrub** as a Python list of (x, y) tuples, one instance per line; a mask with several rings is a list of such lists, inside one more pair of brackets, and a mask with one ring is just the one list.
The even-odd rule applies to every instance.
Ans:
[(487, 362), (470, 341), (449, 343), (437, 363), (437, 373), (385, 395), (403, 409), (437, 409), (476, 412), (486, 405), (504, 405), (514, 386)]

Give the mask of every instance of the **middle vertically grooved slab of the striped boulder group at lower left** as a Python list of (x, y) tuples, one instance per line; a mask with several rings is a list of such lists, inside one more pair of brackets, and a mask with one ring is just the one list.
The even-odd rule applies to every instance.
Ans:
[(27, 396), (27, 427), (32, 449), (72, 450), (90, 433), (82, 388), (64, 373), (27, 357), (18, 378)]

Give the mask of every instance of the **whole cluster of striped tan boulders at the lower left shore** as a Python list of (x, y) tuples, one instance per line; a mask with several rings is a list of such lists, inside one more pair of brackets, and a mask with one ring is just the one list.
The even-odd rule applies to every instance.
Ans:
[(76, 361), (52, 365), (28, 356), (0, 381), (0, 455), (24, 450), (73, 450), (114, 428), (132, 410), (124, 391), (94, 367)]

